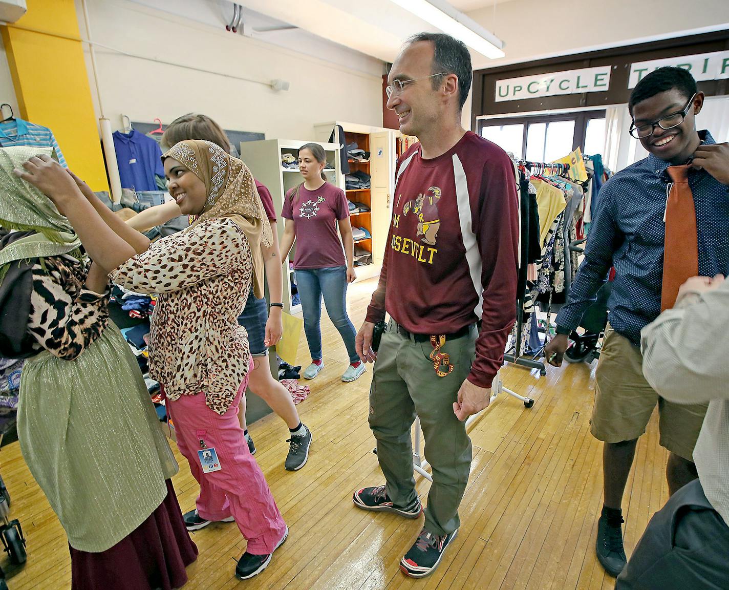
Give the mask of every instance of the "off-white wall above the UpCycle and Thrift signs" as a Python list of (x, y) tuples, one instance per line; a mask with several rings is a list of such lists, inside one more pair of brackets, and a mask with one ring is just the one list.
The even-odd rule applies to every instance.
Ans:
[(729, 0), (512, 0), (468, 15), (506, 44), (503, 59), (475, 58), (479, 69), (727, 28), (720, 23), (729, 23)]

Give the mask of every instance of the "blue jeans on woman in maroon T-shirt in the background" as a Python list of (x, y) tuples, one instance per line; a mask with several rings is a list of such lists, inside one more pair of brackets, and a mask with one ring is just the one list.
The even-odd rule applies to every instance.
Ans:
[(301, 296), (304, 314), (304, 333), (312, 360), (321, 359), (321, 295), (332, 324), (339, 330), (347, 347), (349, 362), (359, 360), (354, 338), (356, 330), (349, 321), (346, 308), (347, 267), (306, 268), (296, 271), (296, 286)]

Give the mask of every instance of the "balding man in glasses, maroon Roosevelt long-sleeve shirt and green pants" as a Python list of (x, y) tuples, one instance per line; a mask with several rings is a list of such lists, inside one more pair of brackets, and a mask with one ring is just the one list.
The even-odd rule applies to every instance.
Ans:
[[(515, 320), (514, 168), (501, 148), (461, 128), (471, 78), (467, 48), (444, 34), (416, 35), (392, 66), (387, 106), (420, 143), (397, 163), (380, 282), (357, 335), (362, 360), (377, 359), (370, 427), (387, 483), (354, 492), (355, 505), (418, 518), (416, 413), (433, 467), (424, 528), (400, 562), (416, 578), (437, 567), (458, 532), (472, 458), (464, 421), (488, 405)], [(386, 311), (375, 354), (373, 327)]]

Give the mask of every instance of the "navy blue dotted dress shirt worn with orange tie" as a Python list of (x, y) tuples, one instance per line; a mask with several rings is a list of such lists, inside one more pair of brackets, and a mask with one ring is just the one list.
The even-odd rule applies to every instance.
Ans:
[[(699, 131), (703, 144), (716, 143)], [(640, 346), (640, 331), (660, 314), (663, 239), (670, 164), (655, 155), (609, 179), (588, 235), (585, 260), (572, 282), (567, 303), (557, 314), (562, 330), (574, 330), (615, 266), (607, 303), (612, 328)], [(698, 228), (698, 273), (729, 274), (729, 187), (704, 170), (690, 170)]]

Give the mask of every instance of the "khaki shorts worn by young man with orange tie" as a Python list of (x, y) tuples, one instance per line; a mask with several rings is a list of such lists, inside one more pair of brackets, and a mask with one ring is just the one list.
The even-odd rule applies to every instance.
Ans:
[(693, 447), (708, 404), (682, 405), (659, 397), (643, 376), (643, 355), (607, 325), (595, 374), (590, 432), (606, 443), (634, 440), (645, 432), (656, 403), (660, 446), (693, 461)]

